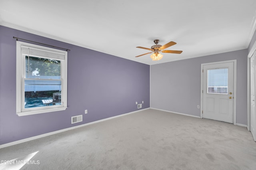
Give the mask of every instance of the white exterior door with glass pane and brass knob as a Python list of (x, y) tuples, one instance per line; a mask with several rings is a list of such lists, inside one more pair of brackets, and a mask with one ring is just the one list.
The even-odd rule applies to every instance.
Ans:
[(203, 65), (202, 117), (233, 123), (234, 62)]

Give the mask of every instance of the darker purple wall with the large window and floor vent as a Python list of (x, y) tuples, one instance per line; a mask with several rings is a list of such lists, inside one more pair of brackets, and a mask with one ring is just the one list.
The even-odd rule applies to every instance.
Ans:
[[(19, 37), (71, 49), (68, 52), (68, 108), (16, 115), (16, 40)], [(0, 26), (0, 144), (150, 107), (150, 66), (76, 45)], [(88, 114), (84, 110), (88, 109)], [(83, 114), (83, 122), (71, 117)]]

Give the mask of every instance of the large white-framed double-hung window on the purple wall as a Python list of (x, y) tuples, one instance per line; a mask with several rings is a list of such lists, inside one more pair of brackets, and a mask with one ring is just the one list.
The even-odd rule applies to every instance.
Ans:
[(19, 116), (67, 108), (67, 51), (16, 43), (16, 113)]

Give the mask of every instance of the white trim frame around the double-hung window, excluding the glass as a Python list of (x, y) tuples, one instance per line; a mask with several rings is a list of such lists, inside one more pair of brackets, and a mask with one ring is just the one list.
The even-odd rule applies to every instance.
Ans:
[[(48, 50), (48, 51), (54, 51), (63, 53), (65, 55), (65, 59), (61, 61), (63, 63), (61, 67), (61, 79), (62, 79), (62, 105), (54, 105), (54, 106), (45, 106), (45, 107), (35, 107), (33, 109), (30, 109), (29, 111), (24, 111), (26, 109), (23, 109), (22, 105), (24, 105), (24, 99), (22, 99), (24, 92), (24, 82), (22, 81), (22, 74), (24, 73), (24, 58), (22, 56), (21, 47), (22, 45), (26, 45), (29, 47), (34, 47), (42, 50)], [(68, 69), (68, 52), (62, 51), (59, 49), (53, 49), (49, 47), (43, 47), (40, 45), (35, 45), (31, 43), (25, 43), (25, 42), (19, 42), (16, 41), (16, 114), (18, 116), (26, 116), (26, 115), (34, 115), (34, 114), (40, 114), (40, 113), (48, 113), (48, 112), (54, 112), (54, 111), (63, 111), (67, 108), (67, 69)]]

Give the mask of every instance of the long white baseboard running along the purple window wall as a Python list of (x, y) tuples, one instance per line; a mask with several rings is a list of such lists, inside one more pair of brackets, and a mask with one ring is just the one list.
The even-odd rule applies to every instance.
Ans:
[(14, 142), (6, 143), (6, 144), (1, 144), (1, 145), (0, 145), (0, 148), (5, 148), (5, 147), (12, 146), (12, 145), (15, 145), (15, 144), (20, 144), (20, 143), (23, 143), (23, 142), (28, 142), (28, 141), (30, 141), (30, 140), (42, 138), (42, 137), (45, 137), (45, 136), (50, 136), (50, 135), (52, 135), (52, 134), (57, 134), (57, 133), (60, 133), (60, 132), (65, 132), (65, 131), (72, 130), (72, 129), (75, 129), (75, 128), (80, 128), (80, 127), (92, 125), (92, 124), (94, 124), (94, 123), (99, 123), (99, 122), (107, 121), (107, 120), (114, 119), (114, 118), (117, 118), (117, 117), (121, 117), (121, 116), (125, 116), (125, 115), (130, 115), (130, 114), (132, 114), (132, 113), (144, 111), (144, 110), (147, 110), (147, 109), (150, 109), (150, 108), (141, 109), (141, 110), (133, 111), (133, 112), (130, 112), (130, 113), (124, 113), (124, 114), (122, 114), (122, 115), (117, 115), (117, 116), (109, 117), (109, 118), (106, 118), (106, 119), (101, 119), (101, 120), (98, 120), (98, 121), (86, 123), (86, 124), (83, 124), (83, 125), (78, 125), (78, 126), (75, 126), (75, 127), (64, 128), (64, 129), (57, 130), (57, 131), (54, 131), (54, 132), (49, 132), (49, 133), (45, 133), (45, 134), (40, 134), (40, 135), (38, 135), (38, 136), (33, 136), (33, 137), (30, 137), (30, 138), (25, 138), (25, 139), (21, 139), (21, 140), (16, 140), (16, 141), (14, 141)]

